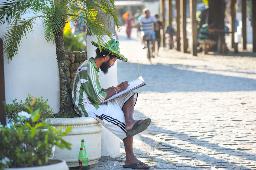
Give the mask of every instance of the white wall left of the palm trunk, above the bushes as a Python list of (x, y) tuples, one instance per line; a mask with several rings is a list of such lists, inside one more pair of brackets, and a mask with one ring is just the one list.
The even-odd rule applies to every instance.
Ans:
[[(6, 29), (0, 26), (0, 38)], [(3, 39), (3, 38), (2, 38)], [(4, 42), (5, 43), (5, 42)], [(60, 79), (55, 43), (44, 39), (40, 21), (33, 26), (33, 33), (23, 38), (18, 54), (9, 63), (4, 62), (5, 101), (24, 100), (29, 94), (43, 96), (57, 113), (60, 107)]]

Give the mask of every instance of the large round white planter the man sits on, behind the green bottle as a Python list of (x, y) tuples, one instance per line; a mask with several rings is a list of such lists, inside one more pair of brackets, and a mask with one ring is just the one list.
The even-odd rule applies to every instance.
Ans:
[[(104, 127), (98, 120), (92, 117), (76, 118), (50, 118), (50, 125), (56, 129), (61, 126), (72, 127), (72, 132), (63, 137), (71, 143), (71, 150), (60, 149), (56, 146), (53, 159), (64, 159), (69, 167), (78, 166), (78, 154), (81, 147), (81, 139), (85, 140), (88, 153), (88, 164), (92, 168), (101, 157), (101, 131)], [(63, 131), (65, 128), (63, 128)]]

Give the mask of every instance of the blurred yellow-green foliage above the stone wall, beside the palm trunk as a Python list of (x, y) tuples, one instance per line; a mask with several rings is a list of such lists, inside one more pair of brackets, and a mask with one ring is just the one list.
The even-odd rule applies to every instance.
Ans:
[(86, 51), (86, 45), (83, 43), (84, 40), (84, 33), (76, 33), (72, 34), (71, 30), (67, 30), (64, 32), (64, 48), (65, 50), (72, 52), (72, 51)]

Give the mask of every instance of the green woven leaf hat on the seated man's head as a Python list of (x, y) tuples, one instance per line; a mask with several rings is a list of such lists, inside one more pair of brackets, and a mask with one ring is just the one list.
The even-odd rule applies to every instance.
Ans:
[[(99, 44), (92, 41), (91, 42), (92, 45), (94, 45), (95, 47), (99, 47)], [(120, 51), (119, 51), (119, 42), (116, 41), (115, 39), (111, 39), (109, 40), (108, 42), (104, 43), (101, 45), (102, 49), (103, 50), (106, 50), (107, 52), (111, 53), (112, 55), (115, 55), (117, 56), (117, 59), (119, 60), (122, 60), (124, 62), (127, 62), (128, 59), (124, 57), (124, 55), (121, 55), (120, 54)]]

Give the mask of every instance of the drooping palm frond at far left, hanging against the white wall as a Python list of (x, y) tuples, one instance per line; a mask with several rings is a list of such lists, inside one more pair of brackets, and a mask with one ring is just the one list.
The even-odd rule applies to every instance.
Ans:
[(8, 27), (7, 32), (3, 35), (5, 39), (4, 53), (8, 62), (18, 53), (21, 38), (24, 36), (27, 38), (27, 33), (33, 31), (33, 24), (36, 18), (37, 17), (20, 19), (15, 25)]

